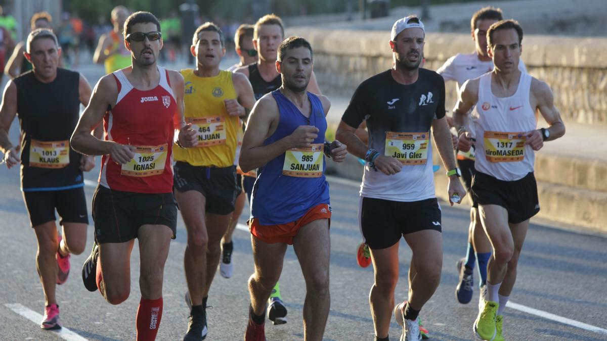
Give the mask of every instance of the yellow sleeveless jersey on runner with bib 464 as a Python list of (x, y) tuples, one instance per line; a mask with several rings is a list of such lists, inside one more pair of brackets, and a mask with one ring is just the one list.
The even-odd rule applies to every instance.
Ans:
[(185, 118), (197, 131), (198, 146), (173, 148), (175, 161), (192, 166), (234, 165), (239, 117), (228, 115), (225, 100), (236, 100), (232, 73), (220, 71), (214, 77), (198, 77), (193, 69), (181, 70), (185, 81)]

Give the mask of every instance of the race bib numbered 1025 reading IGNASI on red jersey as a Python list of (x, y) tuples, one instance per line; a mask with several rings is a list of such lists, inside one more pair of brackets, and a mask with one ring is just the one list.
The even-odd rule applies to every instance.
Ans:
[(122, 165), (121, 175), (127, 177), (150, 177), (164, 173), (168, 144), (160, 146), (136, 146), (135, 156)]

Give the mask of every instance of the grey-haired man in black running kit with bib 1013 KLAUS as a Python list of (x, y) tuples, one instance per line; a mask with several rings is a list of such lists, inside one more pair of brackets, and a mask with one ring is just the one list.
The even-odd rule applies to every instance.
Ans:
[[(8, 81), (0, 108), (0, 149), (8, 168), (21, 164), (21, 190), (38, 241), (43, 329), (61, 328), (55, 285), (67, 280), (70, 254), (81, 254), (86, 246), (83, 170), (95, 166), (95, 158), (78, 154), (69, 144), (80, 104), (89, 103), (90, 86), (80, 73), (58, 68), (60, 55), (52, 31), (33, 30), (25, 43), (33, 70)], [(18, 146), (8, 139), (15, 115), (21, 125)], [(63, 237), (57, 234), (55, 209)]]

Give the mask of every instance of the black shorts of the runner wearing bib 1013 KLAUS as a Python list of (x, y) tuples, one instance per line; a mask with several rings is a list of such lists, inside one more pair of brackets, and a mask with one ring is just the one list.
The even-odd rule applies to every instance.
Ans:
[(23, 200), (32, 228), (55, 221), (55, 209), (59, 214), (59, 225), (64, 223), (89, 224), (84, 187), (64, 191), (23, 192)]

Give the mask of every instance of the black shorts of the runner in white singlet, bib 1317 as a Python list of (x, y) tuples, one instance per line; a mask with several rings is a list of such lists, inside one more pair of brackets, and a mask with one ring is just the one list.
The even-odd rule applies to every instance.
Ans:
[(503, 181), (476, 171), (472, 195), (479, 205), (498, 205), (508, 211), (508, 223), (521, 223), (540, 212), (533, 172), (515, 181)]

